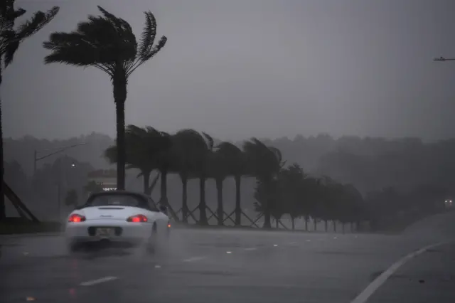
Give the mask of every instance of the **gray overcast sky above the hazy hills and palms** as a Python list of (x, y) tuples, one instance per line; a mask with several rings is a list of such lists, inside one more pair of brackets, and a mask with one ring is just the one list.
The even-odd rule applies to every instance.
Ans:
[[(109, 77), (44, 65), (41, 46), (96, 5), (141, 32), (143, 11), (168, 43), (129, 80), (127, 124), (220, 139), (335, 136), (455, 137), (454, 0), (63, 0), (4, 74), (4, 134), (114, 135)], [(29, 16), (29, 14), (27, 15)]]

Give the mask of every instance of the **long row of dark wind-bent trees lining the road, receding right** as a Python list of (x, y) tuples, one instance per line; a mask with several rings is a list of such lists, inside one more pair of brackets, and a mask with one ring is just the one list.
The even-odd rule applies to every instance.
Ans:
[[(240, 225), (242, 207), (240, 188), (242, 178), (257, 180), (255, 186), (255, 210), (263, 216), (264, 227), (271, 227), (271, 219), (279, 224), (283, 215), (289, 215), (294, 228), (295, 218), (304, 218), (307, 224), (328, 222), (355, 223), (368, 221), (373, 228), (380, 221), (395, 218), (399, 213), (433, 212), (444, 209), (444, 199), (449, 194), (445, 188), (419, 186), (410, 193), (400, 193), (392, 188), (371, 192), (363, 198), (352, 184), (341, 184), (323, 176), (309, 176), (299, 164), (286, 165), (279, 149), (269, 147), (259, 139), (252, 138), (237, 146), (230, 142), (215, 144), (210, 135), (183, 129), (175, 134), (161, 132), (153, 127), (128, 125), (125, 133), (127, 169), (138, 169), (143, 179), (144, 193), (150, 194), (151, 173), (158, 171), (161, 179), (159, 203), (171, 209), (175, 218), (177, 211), (169, 205), (167, 198), (167, 178), (178, 174), (182, 184), (181, 212), (183, 222), (191, 216), (188, 209), (187, 184), (190, 179), (198, 179), (200, 199), (198, 222), (208, 224), (208, 207), (205, 201), (205, 184), (215, 180), (218, 192), (217, 209), (213, 213), (218, 224), (223, 225), (225, 216), (223, 201), (223, 181), (233, 178), (236, 184), (235, 223)], [(117, 161), (117, 146), (105, 151), (109, 161)], [(414, 201), (412, 201), (414, 199)], [(335, 225), (334, 225), (335, 226)]]

